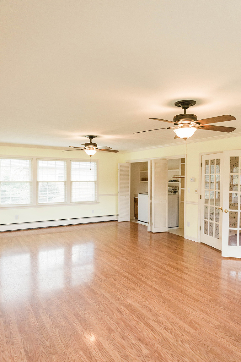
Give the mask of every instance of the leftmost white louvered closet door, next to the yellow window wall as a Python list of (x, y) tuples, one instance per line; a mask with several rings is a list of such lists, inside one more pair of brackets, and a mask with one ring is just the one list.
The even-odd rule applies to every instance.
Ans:
[(130, 221), (129, 163), (118, 163), (118, 221)]

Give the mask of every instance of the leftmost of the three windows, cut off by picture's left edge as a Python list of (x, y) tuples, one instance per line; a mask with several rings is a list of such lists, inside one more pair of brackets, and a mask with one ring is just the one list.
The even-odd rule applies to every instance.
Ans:
[(31, 160), (0, 159), (0, 205), (31, 204)]

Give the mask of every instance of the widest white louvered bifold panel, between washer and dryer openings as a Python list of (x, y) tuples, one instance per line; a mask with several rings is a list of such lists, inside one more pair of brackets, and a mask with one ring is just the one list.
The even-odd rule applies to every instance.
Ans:
[(153, 160), (151, 231), (167, 231), (167, 160)]

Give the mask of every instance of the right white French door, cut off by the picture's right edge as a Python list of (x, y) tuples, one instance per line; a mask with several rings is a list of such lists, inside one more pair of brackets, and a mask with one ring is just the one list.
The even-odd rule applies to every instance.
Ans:
[(224, 151), (222, 256), (241, 258), (241, 151)]

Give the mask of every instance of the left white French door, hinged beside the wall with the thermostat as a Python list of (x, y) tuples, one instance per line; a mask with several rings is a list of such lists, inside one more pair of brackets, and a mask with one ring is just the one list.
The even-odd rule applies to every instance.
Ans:
[(223, 153), (202, 156), (201, 242), (222, 249)]

